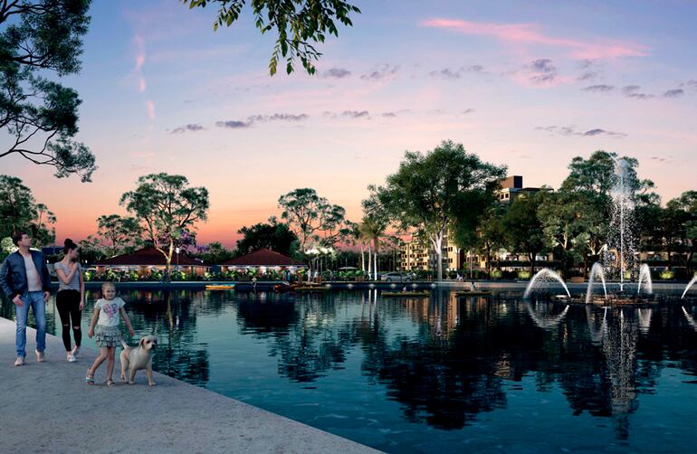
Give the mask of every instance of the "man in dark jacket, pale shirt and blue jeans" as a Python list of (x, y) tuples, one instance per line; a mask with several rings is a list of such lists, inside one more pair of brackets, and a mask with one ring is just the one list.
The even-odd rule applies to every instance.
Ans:
[(16, 310), (17, 360), (14, 365), (23, 365), (26, 356), (26, 320), (32, 307), (36, 320), (36, 361), (43, 363), (46, 348), (46, 302), (49, 296), (51, 277), (46, 260), (39, 251), (31, 251), (32, 238), (26, 232), (17, 232), (12, 242), (19, 248), (7, 256), (0, 268), (0, 288), (7, 298), (12, 299)]

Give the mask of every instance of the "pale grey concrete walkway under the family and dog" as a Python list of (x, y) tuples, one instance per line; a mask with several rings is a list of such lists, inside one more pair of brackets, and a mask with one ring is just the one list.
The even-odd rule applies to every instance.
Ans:
[(14, 322), (0, 317), (0, 452), (377, 452), (166, 375), (148, 387), (85, 384), (95, 352), (65, 361), (60, 338), (48, 335), (46, 362), (36, 363), (27, 329), (27, 364), (14, 367)]

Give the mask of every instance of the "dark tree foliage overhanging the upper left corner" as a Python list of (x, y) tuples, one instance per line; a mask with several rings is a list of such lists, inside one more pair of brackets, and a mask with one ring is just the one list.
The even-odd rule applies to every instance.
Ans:
[[(0, 128), (10, 135), (0, 158), (53, 166), (59, 178), (90, 181), (97, 166), (78, 133), (78, 93), (56, 81), (80, 71), (90, 0), (24, 0), (0, 5)], [(44, 77), (43, 72), (53, 72)]]

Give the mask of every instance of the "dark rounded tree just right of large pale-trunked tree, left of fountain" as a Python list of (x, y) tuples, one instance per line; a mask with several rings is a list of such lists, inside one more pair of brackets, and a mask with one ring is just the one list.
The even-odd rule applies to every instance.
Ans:
[(535, 273), (535, 258), (545, 247), (545, 233), (538, 218), (544, 194), (520, 195), (503, 217), (504, 238), (513, 251), (524, 252), (530, 260), (530, 274)]

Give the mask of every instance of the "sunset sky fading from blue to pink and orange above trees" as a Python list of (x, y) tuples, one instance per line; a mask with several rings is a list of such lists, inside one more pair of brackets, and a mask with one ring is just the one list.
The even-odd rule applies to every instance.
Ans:
[(695, 189), (697, 3), (361, 1), (354, 27), (320, 45), (318, 75), (270, 77), (273, 38), (247, 10), (214, 33), (215, 8), (95, 1), (80, 74), (80, 134), (93, 182), (0, 160), (58, 217), (57, 242), (124, 213), (139, 175), (210, 191), (198, 242), (234, 244), (313, 187), (358, 221), (368, 184), (406, 150), (462, 142), (530, 186), (558, 187), (573, 156), (639, 159), (663, 200)]

